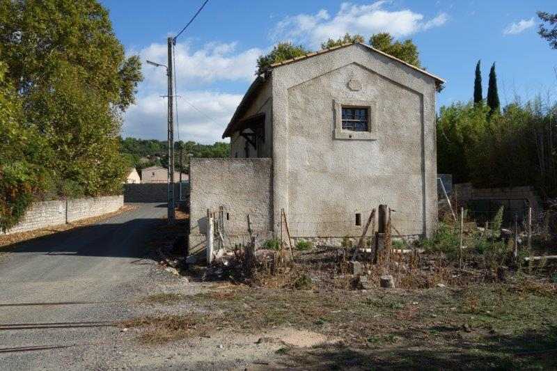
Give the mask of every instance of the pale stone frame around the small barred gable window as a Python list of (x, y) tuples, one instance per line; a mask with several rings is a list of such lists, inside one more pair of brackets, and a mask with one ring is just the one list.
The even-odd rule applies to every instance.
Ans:
[[(353, 141), (374, 141), (377, 139), (377, 103), (372, 100), (333, 100), (334, 106), (334, 139)], [(367, 109), (368, 130), (356, 132), (343, 129), (343, 108)]]

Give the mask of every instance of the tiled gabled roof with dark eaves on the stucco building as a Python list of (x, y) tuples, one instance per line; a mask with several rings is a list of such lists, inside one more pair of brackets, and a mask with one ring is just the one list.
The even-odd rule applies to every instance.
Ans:
[(223, 139), (226, 138), (227, 136), (232, 135), (233, 132), (235, 132), (235, 128), (237, 127), (237, 123), (238, 123), (238, 119), (240, 117), (242, 117), (242, 115), (245, 113), (245, 111), (249, 108), (249, 104), (251, 104), (251, 102), (253, 101), (253, 98), (256, 97), (260, 87), (265, 82), (265, 75), (272, 72), (273, 68), (280, 67), (281, 65), (288, 65), (290, 63), (295, 63), (297, 61), (302, 61), (304, 59), (311, 58), (312, 56), (317, 56), (317, 55), (320, 55), (320, 54), (329, 53), (329, 52), (332, 52), (333, 50), (340, 49), (340, 48), (343, 48), (343, 47), (350, 47), (350, 45), (356, 45), (356, 44), (362, 45), (363, 47), (366, 47), (366, 48), (372, 50), (373, 52), (379, 53), (382, 56), (386, 56), (387, 58), (390, 58), (393, 61), (397, 61), (398, 63), (402, 63), (403, 65), (406, 65), (407, 67), (411, 68), (412, 70), (416, 70), (418, 72), (421, 72), (422, 74), (425, 74), (426, 76), (432, 77), (435, 80), (435, 84), (436, 84), (437, 87), (439, 87), (441, 84), (445, 83), (445, 80), (441, 79), (441, 77), (438, 77), (434, 74), (431, 74), (430, 72), (427, 72), (426, 70), (423, 70), (421, 68), (417, 68), (415, 65), (411, 65), (410, 63), (402, 61), (399, 58), (396, 58), (394, 56), (386, 54), (379, 49), (375, 49), (374, 47), (371, 47), (370, 45), (364, 44), (363, 42), (347, 42), (343, 45), (338, 45), (336, 47), (330, 47), (330, 48), (327, 48), (327, 49), (322, 49), (322, 50), (319, 50), (317, 52), (311, 52), (311, 53), (305, 54), (303, 56), (297, 56), (296, 58), (287, 59), (286, 61), (273, 63), (267, 70), (265, 70), (265, 74), (259, 75), (255, 79), (255, 81), (253, 81), (253, 83), (251, 83), (251, 86), (249, 86), (249, 89), (246, 92), (246, 95), (244, 95), (244, 97), (242, 98), (242, 102), (240, 102), (240, 104), (238, 105), (236, 111), (234, 112), (234, 115), (232, 116), (232, 119), (230, 119), (230, 123), (228, 123), (228, 126), (226, 127), (226, 129), (224, 130), (224, 133), (222, 134)]

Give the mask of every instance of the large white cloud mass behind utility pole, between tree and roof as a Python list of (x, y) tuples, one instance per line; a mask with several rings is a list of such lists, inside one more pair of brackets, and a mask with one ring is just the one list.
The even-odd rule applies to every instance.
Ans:
[[(200, 143), (221, 140), (242, 95), (223, 93), (220, 86), (237, 81), (247, 88), (256, 77), (256, 61), (263, 52), (257, 48), (237, 52), (236, 42), (210, 42), (200, 49), (194, 49), (190, 42), (176, 45), (180, 139)], [(136, 104), (125, 113), (123, 136), (166, 139), (167, 102), (161, 97), (166, 95), (166, 71), (144, 63), (150, 60), (166, 65), (166, 44), (152, 44), (128, 54), (141, 57), (144, 80), (139, 85)]]

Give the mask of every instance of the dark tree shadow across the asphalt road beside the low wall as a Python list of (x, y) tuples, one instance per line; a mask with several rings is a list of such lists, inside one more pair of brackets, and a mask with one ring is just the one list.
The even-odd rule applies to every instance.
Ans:
[[(166, 204), (165, 204), (166, 207)], [(10, 253), (143, 258), (164, 219), (132, 219), (56, 232), (2, 248)]]

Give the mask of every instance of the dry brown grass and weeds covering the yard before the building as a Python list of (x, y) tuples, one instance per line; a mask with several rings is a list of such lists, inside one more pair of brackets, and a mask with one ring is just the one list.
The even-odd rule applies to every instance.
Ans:
[[(298, 246), (293, 259), (280, 248), (255, 258), (237, 250), (207, 269), (188, 267), (191, 279), (214, 281), (213, 290), (151, 299), (188, 301), (187, 313), (124, 326), (140, 327), (139, 340), (152, 345), (280, 328), (339, 338), (336, 345), (278, 349), (284, 365), (316, 370), (556, 368), (553, 263), (523, 264), (529, 252), (515, 259), (514, 246), (469, 230), (460, 267), (455, 228), (448, 227), (426, 242), (393, 242), (375, 264), (360, 254), (356, 275), (349, 244)], [(411, 252), (396, 253), (402, 249)], [(394, 277), (395, 289), (379, 288), (384, 274)]]

